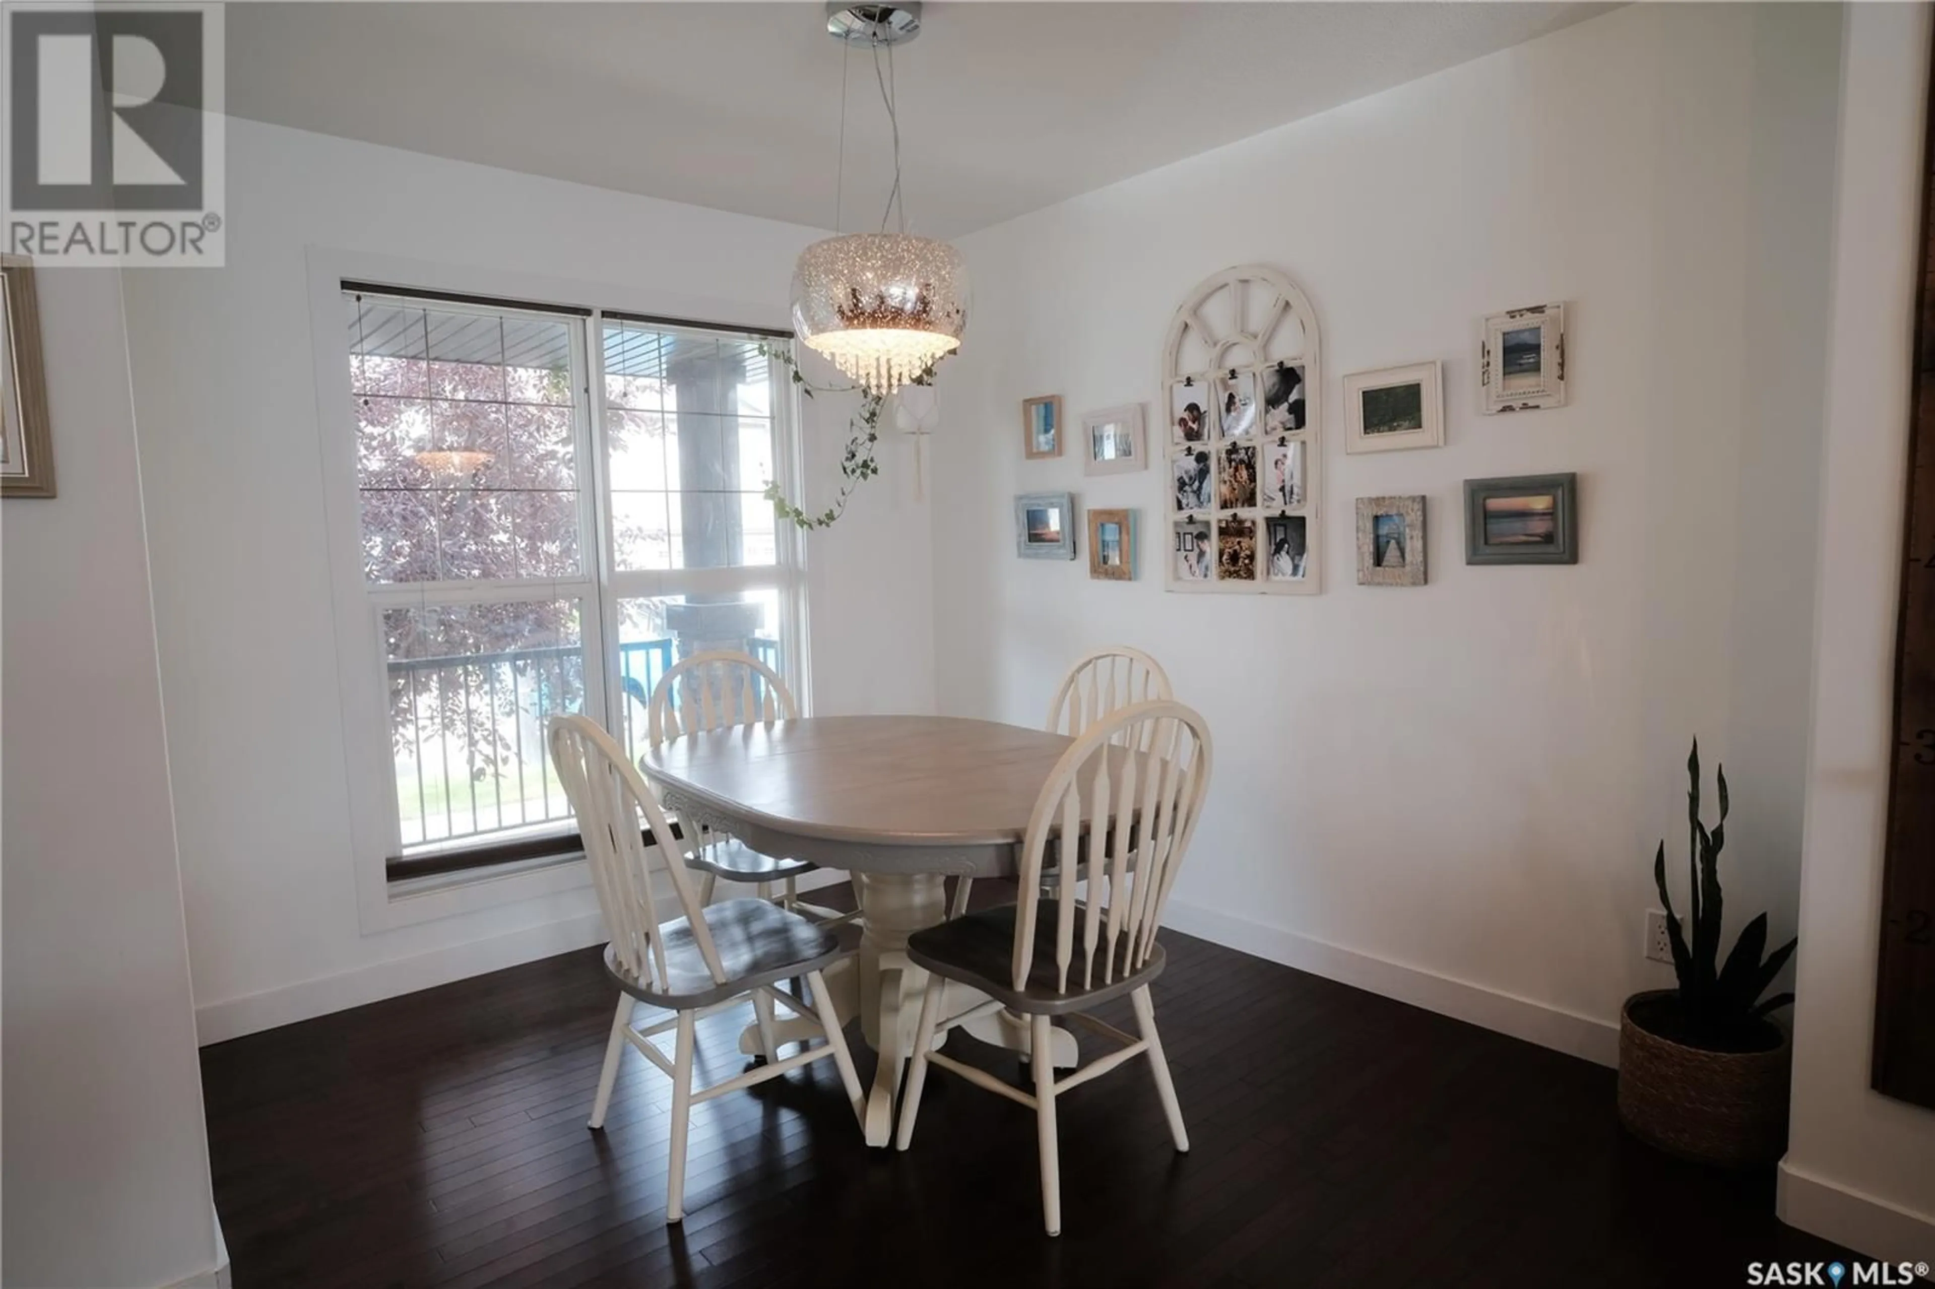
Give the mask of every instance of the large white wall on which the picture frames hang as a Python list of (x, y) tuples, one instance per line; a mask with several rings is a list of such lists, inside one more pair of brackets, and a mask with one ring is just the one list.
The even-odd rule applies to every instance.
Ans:
[[(964, 238), (942, 710), (1033, 722), (1082, 648), (1147, 648), (1217, 737), (1175, 925), (1610, 1061), (1670, 983), (1641, 935), (1691, 735), (1728, 906), (1794, 927), (1836, 77), (1832, 8), (1631, 6)], [(1325, 592), (1171, 596), (1167, 476), (1022, 461), (1018, 405), (1153, 408), (1171, 312), (1250, 261), (1322, 323)], [(1571, 405), (1478, 416), (1478, 319), (1544, 300)], [(1422, 358), (1447, 447), (1347, 457), (1341, 377)], [(1461, 480), (1558, 470), (1583, 561), (1467, 567)], [(1142, 509), (1144, 581), (1014, 557), (1010, 495), (1060, 488)], [(1356, 586), (1353, 497), (1407, 492), (1430, 585)]]

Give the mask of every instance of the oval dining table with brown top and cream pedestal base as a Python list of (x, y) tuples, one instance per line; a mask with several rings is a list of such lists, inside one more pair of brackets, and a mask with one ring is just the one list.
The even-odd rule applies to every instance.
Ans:
[[(867, 1094), (867, 1144), (886, 1146), (900, 1072), (911, 1055), (927, 972), (908, 937), (946, 917), (948, 877), (1012, 877), (1035, 797), (1072, 739), (956, 716), (807, 716), (670, 739), (639, 757), (640, 772), (685, 824), (739, 838), (778, 859), (853, 875), (859, 956), (826, 970), (840, 1016), (859, 1012), (878, 1053)], [(946, 1012), (979, 1001), (948, 985)], [(964, 1026), (1027, 1053), (1027, 1024), (995, 1012)], [(776, 1026), (778, 1041), (809, 1028)], [(759, 1051), (759, 1032), (741, 1035)], [(1029, 1053), (1031, 1055), (1031, 1053)], [(1055, 1032), (1051, 1059), (1076, 1063)]]

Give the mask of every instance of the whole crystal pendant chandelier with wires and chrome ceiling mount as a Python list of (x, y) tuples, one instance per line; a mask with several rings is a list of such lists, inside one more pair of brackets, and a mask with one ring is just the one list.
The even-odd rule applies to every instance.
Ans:
[[(826, 31), (846, 45), (840, 77), (840, 178), (834, 226), (840, 226), (838, 188), (846, 184), (846, 54), (855, 45), (873, 54), (875, 79), (894, 132), (894, 188), (878, 232), (855, 232), (815, 242), (793, 269), (793, 331), (867, 393), (886, 397), (915, 381), (935, 362), (960, 348), (968, 329), (968, 265), (960, 252), (935, 238), (908, 232), (900, 194), (900, 116), (894, 97), (894, 45), (921, 31), (921, 6), (826, 6)], [(884, 50), (884, 60), (882, 60)], [(884, 64), (884, 66), (882, 66)], [(898, 223), (888, 232), (888, 223)]]

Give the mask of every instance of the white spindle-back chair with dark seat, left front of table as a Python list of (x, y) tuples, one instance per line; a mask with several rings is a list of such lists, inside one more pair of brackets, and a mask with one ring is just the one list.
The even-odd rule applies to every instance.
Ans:
[[(611, 1084), (617, 1080), (617, 1061), (625, 1045), (637, 1047), (646, 1061), (671, 1078), (671, 1161), (666, 1183), (666, 1221), (685, 1215), (685, 1136), (691, 1109), (699, 1101), (751, 1088), (778, 1078), (801, 1064), (834, 1059), (840, 1082), (846, 1086), (853, 1117), (859, 1121), (865, 1103), (853, 1059), (840, 1034), (840, 1018), (820, 972), (848, 956), (851, 948), (840, 937), (799, 914), (766, 900), (726, 900), (710, 908), (699, 904), (691, 873), (685, 865), (685, 846), (673, 838), (658, 799), (644, 778), (625, 757), (611, 735), (586, 716), (553, 716), (550, 724), (551, 764), (571, 799), (579, 832), (584, 838), (584, 857), (590, 861), (592, 884), (598, 890), (598, 910), (604, 914), (606, 972), (617, 981), (617, 1014), (611, 1018), (611, 1039), (606, 1043), (604, 1068), (598, 1074), (598, 1099), (592, 1105), (590, 1128), (604, 1128), (611, 1103)], [(650, 850), (640, 836), (644, 826), (658, 840), (660, 863), (652, 865)], [(660, 923), (656, 871), (671, 886), (679, 917)], [(805, 999), (786, 993), (778, 981), (805, 977), (813, 991), (811, 1010)], [(766, 1063), (714, 1084), (693, 1088), (693, 1026), (741, 1001), (751, 999), (759, 1018)], [(646, 1030), (635, 1030), (631, 1014), (637, 1003), (675, 1012)], [(815, 1024), (824, 1043), (778, 1059), (772, 1039), (772, 1008), (780, 1004)], [(652, 1035), (675, 1030), (673, 1053), (652, 1043)]]

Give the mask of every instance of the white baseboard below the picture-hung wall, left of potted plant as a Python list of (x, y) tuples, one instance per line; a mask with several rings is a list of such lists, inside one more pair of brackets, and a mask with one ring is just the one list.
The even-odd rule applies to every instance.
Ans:
[(1169, 902), (1163, 925), (1596, 1064), (1620, 1064), (1620, 1026), (1610, 1020), (1594, 1020), (1182, 900)]

